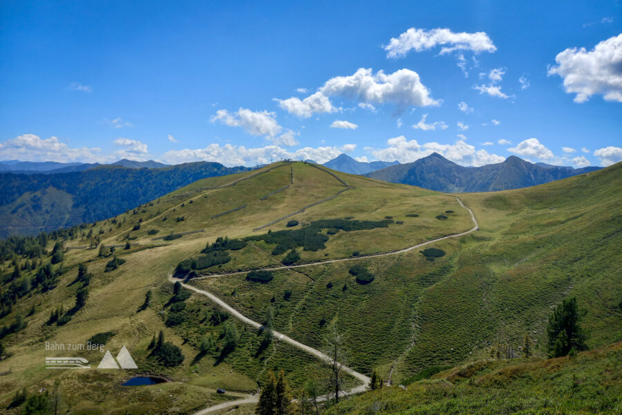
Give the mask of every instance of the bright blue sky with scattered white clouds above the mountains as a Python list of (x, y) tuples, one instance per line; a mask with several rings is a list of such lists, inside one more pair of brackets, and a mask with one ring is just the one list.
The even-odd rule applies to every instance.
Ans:
[(427, 3), (3, 1), (0, 160), (622, 160), (618, 1)]

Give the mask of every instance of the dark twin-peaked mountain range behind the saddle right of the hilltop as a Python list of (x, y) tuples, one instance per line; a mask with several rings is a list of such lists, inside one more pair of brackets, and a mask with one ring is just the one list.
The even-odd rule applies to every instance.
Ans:
[(490, 192), (541, 185), (601, 168), (574, 169), (545, 163), (534, 164), (516, 156), (509, 156), (502, 163), (463, 167), (440, 154), (433, 153), (413, 163), (385, 167), (365, 176), (438, 192)]

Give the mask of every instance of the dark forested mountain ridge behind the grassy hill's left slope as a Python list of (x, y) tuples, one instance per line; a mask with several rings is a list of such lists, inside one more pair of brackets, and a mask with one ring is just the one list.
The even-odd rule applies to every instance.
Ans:
[(100, 221), (201, 178), (249, 170), (204, 161), (147, 169), (121, 164), (57, 174), (0, 172), (0, 237)]

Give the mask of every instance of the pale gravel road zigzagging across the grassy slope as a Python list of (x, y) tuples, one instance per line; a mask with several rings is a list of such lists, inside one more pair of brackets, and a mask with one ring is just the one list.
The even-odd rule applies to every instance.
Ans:
[[(470, 208), (467, 208), (464, 203), (462, 203), (462, 201), (456, 197), (456, 200), (458, 200), (458, 203), (460, 203), (460, 206), (462, 206), (462, 208), (466, 209), (469, 211), (469, 213), (471, 214), (471, 219), (473, 220), (473, 228), (471, 228), (471, 230), (467, 230), (466, 232), (462, 232), (459, 234), (451, 234), (451, 235), (447, 235), (446, 237), (441, 237), (441, 238), (437, 238), (437, 239), (433, 239), (431, 241), (426, 241), (423, 243), (419, 243), (415, 246), (411, 246), (409, 248), (404, 248), (402, 250), (397, 250), (397, 251), (393, 251), (393, 252), (384, 252), (381, 254), (374, 254), (374, 255), (366, 255), (366, 256), (360, 256), (360, 257), (352, 257), (352, 258), (343, 258), (343, 259), (329, 259), (327, 261), (319, 261), (319, 262), (313, 262), (311, 264), (302, 264), (302, 265), (294, 265), (294, 266), (281, 266), (281, 267), (276, 267), (276, 268), (261, 268), (261, 270), (286, 270), (286, 269), (292, 269), (292, 268), (303, 268), (303, 267), (307, 267), (307, 266), (317, 266), (317, 265), (323, 265), (323, 264), (332, 264), (334, 262), (342, 262), (342, 261), (356, 261), (357, 259), (364, 259), (364, 258), (373, 258), (373, 257), (385, 257), (387, 255), (397, 255), (397, 254), (401, 254), (403, 252), (408, 252), (411, 251), (413, 249), (416, 248), (420, 248), (422, 246), (426, 246), (430, 243), (434, 243), (434, 242), (438, 242), (438, 241), (442, 241), (443, 239), (448, 239), (448, 238), (458, 238), (458, 237), (462, 237), (466, 234), (469, 234), (471, 232), (474, 232), (475, 230), (478, 230), (479, 225), (478, 225), (478, 221), (475, 219), (475, 214), (473, 214), (473, 210), (471, 210)], [(218, 275), (208, 275), (205, 277), (198, 277), (198, 278), (194, 278), (194, 279), (199, 279), (199, 278), (207, 278), (207, 277), (220, 277), (220, 276), (225, 276), (225, 275), (238, 275), (238, 274), (245, 274), (248, 273), (248, 271), (244, 271), (241, 273), (229, 273), (229, 274), (218, 274)], [(169, 274), (169, 280), (171, 282), (179, 282), (179, 279), (173, 278), (173, 275)], [(263, 325), (249, 319), (248, 317), (246, 317), (245, 315), (243, 315), (242, 313), (240, 313), (239, 311), (237, 311), (235, 308), (233, 308), (232, 306), (229, 306), (229, 304), (227, 304), (226, 302), (224, 302), (222, 299), (216, 297), (216, 295), (209, 293), (208, 291), (205, 290), (201, 290), (200, 288), (197, 288), (195, 286), (191, 286), (189, 284), (184, 284), (181, 283), (182, 286), (184, 286), (185, 288), (194, 291), (195, 293), (201, 294), (201, 295), (205, 295), (206, 297), (208, 297), (209, 299), (211, 299), (211, 301), (215, 302), (216, 304), (218, 304), (220, 307), (224, 308), (226, 311), (228, 311), (229, 313), (231, 313), (231, 315), (233, 315), (234, 317), (238, 318), (238, 320), (241, 320), (242, 322), (244, 322), (245, 324), (248, 324), (249, 326), (255, 327), (256, 329), (261, 328)], [(296, 340), (288, 337), (287, 335), (284, 335), (283, 333), (279, 333), (278, 331), (273, 331), (272, 332), (274, 335), (274, 338), (276, 338), (277, 340), (286, 342), (291, 344), (294, 347), (297, 347), (298, 349), (301, 349), (317, 358), (319, 358), (320, 360), (323, 360), (326, 363), (331, 363), (332, 360), (330, 358), (330, 356), (326, 355), (326, 353), (322, 353), (321, 351), (317, 350), (317, 349), (313, 349), (312, 347), (307, 346), (306, 344), (302, 344), (301, 342), (297, 342)], [(370, 378), (368, 376), (365, 376), (364, 374), (360, 374), (359, 372), (355, 371), (354, 369), (351, 369), (350, 367), (347, 367), (345, 365), (341, 366), (343, 371), (346, 371), (346, 373), (350, 374), (351, 376), (354, 376), (355, 378), (361, 380), (362, 385), (359, 385), (353, 389), (350, 389), (349, 391), (342, 391), (340, 392), (339, 396), (348, 396), (348, 395), (352, 395), (352, 394), (358, 394), (360, 392), (365, 391), (366, 389), (368, 389), (369, 384), (371, 382)], [(328, 396), (322, 396), (320, 398), (320, 400), (326, 400), (328, 399)], [(225, 403), (220, 403), (218, 405), (214, 405), (212, 407), (207, 407), (205, 409), (202, 409), (199, 412), (196, 412), (196, 414), (194, 415), (203, 415), (203, 414), (207, 414), (209, 412), (214, 412), (218, 409), (225, 409), (227, 407), (232, 407), (235, 405), (243, 405), (245, 403), (256, 403), (258, 401), (258, 398), (256, 396), (247, 396), (246, 398), (243, 398), (241, 400), (232, 400), (231, 402), (225, 402)]]

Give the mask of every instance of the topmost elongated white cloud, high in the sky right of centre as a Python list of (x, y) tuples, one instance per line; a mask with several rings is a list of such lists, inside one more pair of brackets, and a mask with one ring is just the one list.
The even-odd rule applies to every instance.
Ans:
[(497, 50), (485, 32), (454, 33), (447, 28), (432, 30), (410, 28), (399, 37), (391, 38), (389, 44), (384, 46), (384, 50), (387, 52), (387, 57), (402, 57), (411, 50), (421, 52), (435, 48), (435, 46), (442, 46), (440, 55), (454, 50), (471, 50), (474, 53)]

